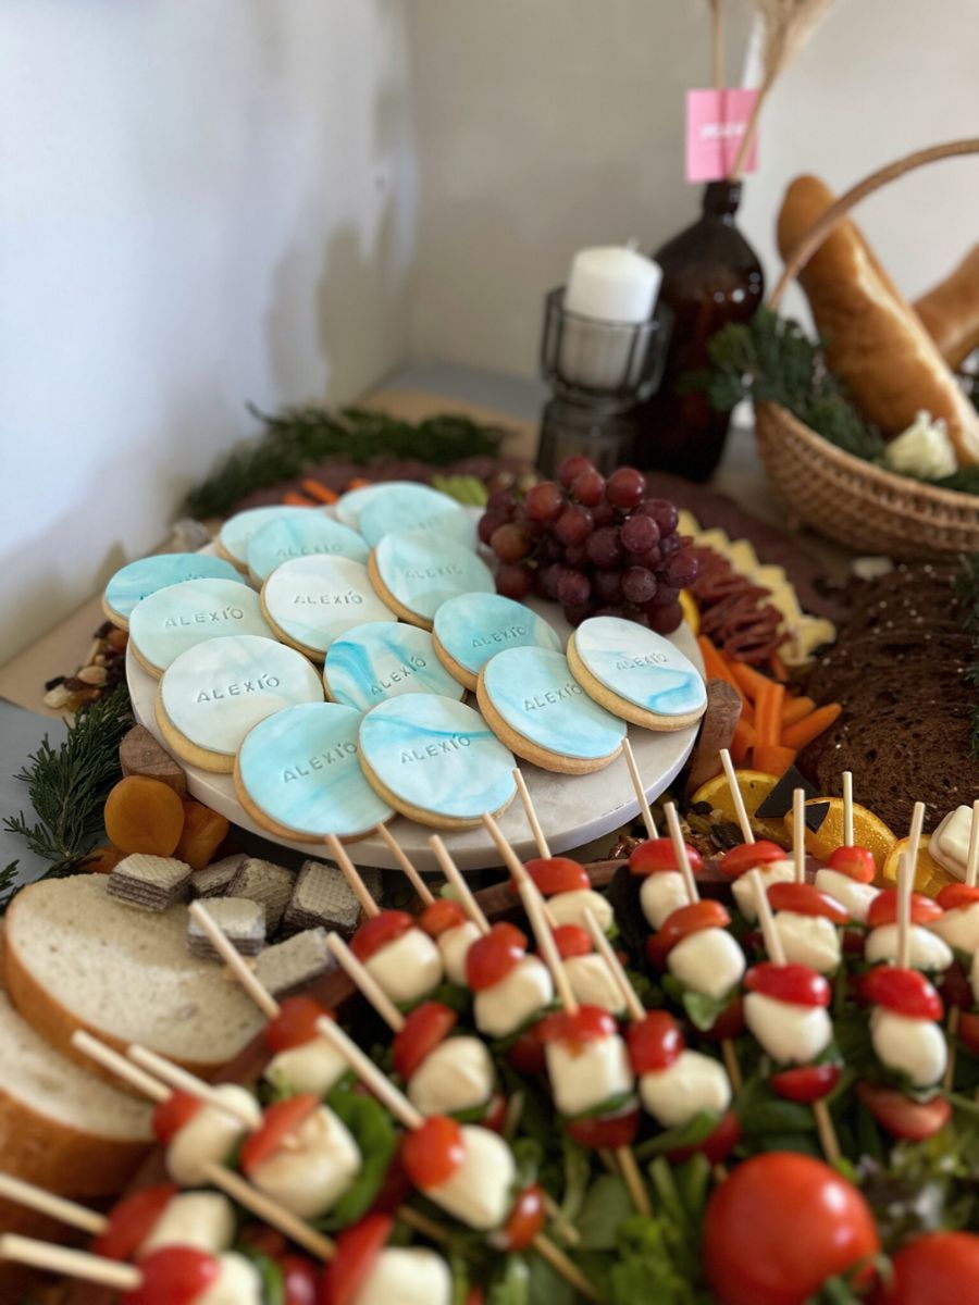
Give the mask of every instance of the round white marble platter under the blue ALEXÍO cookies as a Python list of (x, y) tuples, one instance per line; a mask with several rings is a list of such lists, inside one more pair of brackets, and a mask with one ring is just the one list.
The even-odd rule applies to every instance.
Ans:
[[(478, 517), (479, 513), (475, 512), (475, 515)], [(202, 551), (213, 552), (214, 549), (213, 545), (209, 545)], [(543, 616), (553, 626), (561, 643), (567, 645), (572, 628), (556, 603), (530, 598), (527, 607)], [(691, 659), (701, 673), (704, 672), (704, 659), (688, 625), (681, 625), (675, 634), (670, 636), (670, 641)], [(127, 650), (125, 668), (136, 719), (166, 746), (154, 713), (159, 681), (142, 669), (132, 647)], [(466, 694), (465, 701), (471, 701), (475, 705), (475, 698), (471, 694)], [(650, 801), (658, 797), (680, 773), (693, 748), (697, 729), (698, 726), (694, 724), (672, 733), (655, 733), (651, 729), (629, 726), (629, 741), (636, 753), (646, 796)], [(632, 790), (625, 758), (621, 756), (616, 757), (604, 770), (594, 771), (590, 775), (557, 775), (525, 761), (518, 761), (518, 765), (523, 771), (540, 825), (555, 855), (572, 851), (593, 842), (593, 839), (611, 834), (612, 830), (634, 820), (638, 814), (640, 805)], [(187, 765), (184, 765), (184, 771), (191, 795), (221, 812), (234, 825), (239, 825), (270, 843), (304, 852), (307, 856), (325, 856), (325, 850), (317, 843), (294, 843), (278, 839), (251, 820), (238, 801), (231, 775), (218, 775)], [(538, 855), (520, 797), (514, 796), (503, 813), (500, 827), (522, 859)], [(389, 821), (388, 829), (419, 870), (437, 869), (435, 855), (428, 846), (428, 839), (435, 833), (441, 833), (445, 846), (463, 870), (480, 870), (500, 864), (500, 855), (482, 827), (446, 833), (419, 825), (403, 816), (396, 816)], [(349, 843), (347, 852), (355, 865), (397, 869), (390, 850), (377, 835)]]

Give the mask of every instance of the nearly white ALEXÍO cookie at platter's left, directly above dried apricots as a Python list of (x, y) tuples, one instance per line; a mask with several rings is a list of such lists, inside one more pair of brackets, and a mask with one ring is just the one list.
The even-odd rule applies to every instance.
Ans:
[(230, 774), (260, 720), (300, 702), (322, 702), (316, 668), (302, 652), (257, 634), (208, 639), (163, 672), (157, 723), (178, 757)]

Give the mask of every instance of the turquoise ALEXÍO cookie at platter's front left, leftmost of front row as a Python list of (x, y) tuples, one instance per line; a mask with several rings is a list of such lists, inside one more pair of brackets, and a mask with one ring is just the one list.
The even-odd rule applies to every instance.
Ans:
[(362, 718), (338, 702), (308, 702), (260, 720), (235, 760), (235, 792), (249, 816), (299, 842), (352, 842), (390, 820), (358, 760)]

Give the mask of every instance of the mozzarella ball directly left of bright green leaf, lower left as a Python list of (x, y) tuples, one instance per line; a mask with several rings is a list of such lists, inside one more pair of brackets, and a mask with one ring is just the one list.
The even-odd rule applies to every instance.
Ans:
[(360, 1172), (362, 1156), (347, 1126), (326, 1105), (303, 1120), (290, 1139), (249, 1180), (300, 1219), (326, 1214)]

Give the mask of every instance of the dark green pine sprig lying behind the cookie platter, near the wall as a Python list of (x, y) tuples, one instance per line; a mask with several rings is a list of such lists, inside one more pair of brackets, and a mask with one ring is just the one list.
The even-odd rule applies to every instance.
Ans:
[(316, 462), (343, 458), (369, 463), (376, 458), (419, 458), (445, 466), (474, 454), (495, 454), (503, 432), (465, 416), (432, 416), (402, 422), (386, 412), (320, 407), (249, 412), (265, 425), (257, 444), (232, 453), (202, 484), (192, 489), (184, 510), (194, 517), (223, 517), (255, 489), (291, 480)]

